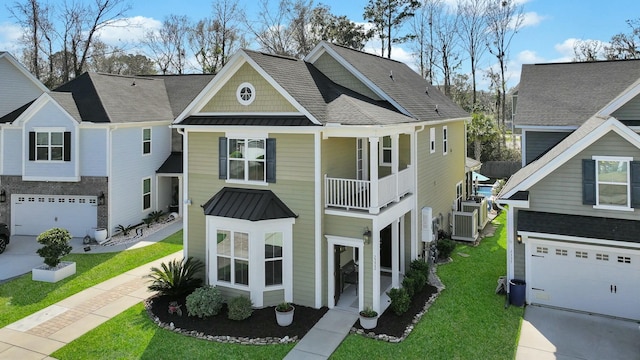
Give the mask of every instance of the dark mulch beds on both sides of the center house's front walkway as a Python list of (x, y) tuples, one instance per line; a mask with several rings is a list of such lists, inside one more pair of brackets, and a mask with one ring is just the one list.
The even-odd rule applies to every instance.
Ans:
[[(405, 330), (412, 325), (416, 314), (424, 311), (424, 306), (429, 298), (437, 293), (437, 289), (426, 285), (423, 291), (415, 294), (409, 311), (397, 316), (391, 309), (387, 309), (378, 319), (378, 326), (365, 332), (371, 336), (389, 335), (402, 338)], [(181, 298), (169, 298), (167, 296), (155, 296), (148, 302), (148, 310), (153, 317), (164, 324), (173, 323), (175, 328), (180, 328), (185, 333), (200, 333), (204, 336), (231, 336), (236, 338), (264, 339), (264, 338), (290, 338), (302, 339), (302, 337), (320, 320), (328, 311), (326, 307), (314, 309), (306, 306), (295, 305), (293, 323), (283, 327), (276, 323), (274, 307), (255, 309), (248, 319), (242, 321), (229, 320), (227, 308), (224, 306), (220, 314), (200, 319), (196, 316), (187, 316), (185, 296)], [(182, 304), (182, 316), (169, 314), (169, 302), (177, 300)], [(360, 322), (356, 321), (354, 327), (362, 329)], [(202, 336), (201, 336), (202, 337)], [(276, 341), (277, 342), (277, 341)]]

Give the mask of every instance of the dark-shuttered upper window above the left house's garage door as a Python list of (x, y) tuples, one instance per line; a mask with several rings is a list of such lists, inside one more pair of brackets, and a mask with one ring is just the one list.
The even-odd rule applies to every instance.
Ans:
[(71, 161), (71, 133), (32, 131), (29, 133), (30, 161)]

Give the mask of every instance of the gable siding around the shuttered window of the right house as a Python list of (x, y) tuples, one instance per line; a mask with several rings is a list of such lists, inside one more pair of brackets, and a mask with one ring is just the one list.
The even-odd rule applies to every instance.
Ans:
[(564, 163), (529, 189), (530, 209), (583, 216), (604, 216), (635, 220), (640, 210), (594, 209), (582, 204), (582, 159), (592, 156), (632, 156), (640, 160), (640, 149), (611, 132)]

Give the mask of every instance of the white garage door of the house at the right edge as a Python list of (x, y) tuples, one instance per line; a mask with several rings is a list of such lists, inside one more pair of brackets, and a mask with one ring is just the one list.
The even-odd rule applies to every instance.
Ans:
[(640, 320), (640, 250), (529, 239), (529, 302)]

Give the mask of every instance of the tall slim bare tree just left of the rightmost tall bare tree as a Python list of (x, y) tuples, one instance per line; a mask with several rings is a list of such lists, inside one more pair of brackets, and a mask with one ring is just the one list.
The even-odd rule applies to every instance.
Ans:
[(458, 32), (462, 47), (469, 56), (471, 66), (471, 84), (473, 87), (473, 106), (477, 103), (476, 74), (478, 62), (486, 51), (487, 25), (485, 13), (487, 0), (458, 0)]

